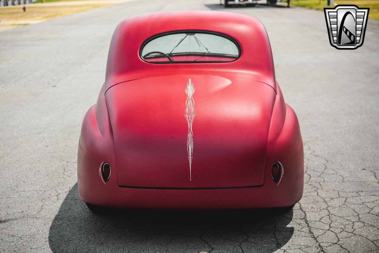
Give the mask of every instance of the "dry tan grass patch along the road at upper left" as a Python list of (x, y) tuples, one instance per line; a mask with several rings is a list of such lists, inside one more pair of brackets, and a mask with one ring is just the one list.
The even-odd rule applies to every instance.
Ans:
[(5, 22), (19, 21), (44, 21), (54, 17), (61, 17), (73, 13), (88, 11), (99, 8), (108, 3), (96, 3), (86, 5), (64, 5), (64, 6), (32, 6), (27, 5), (26, 11), (22, 11), (22, 5), (0, 8), (0, 20)]

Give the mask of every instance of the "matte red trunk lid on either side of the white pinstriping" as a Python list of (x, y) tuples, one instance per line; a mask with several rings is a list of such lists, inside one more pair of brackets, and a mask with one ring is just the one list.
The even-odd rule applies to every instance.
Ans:
[(188, 76), (138, 79), (106, 92), (119, 185), (263, 185), (274, 89), (238, 77), (191, 77), (196, 109), (192, 180), (184, 115)]

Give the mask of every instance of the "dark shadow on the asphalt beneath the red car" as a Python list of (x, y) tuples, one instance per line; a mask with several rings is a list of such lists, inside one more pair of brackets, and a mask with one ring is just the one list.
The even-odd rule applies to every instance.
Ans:
[(49, 231), (53, 252), (273, 252), (290, 240), (292, 209), (94, 214), (71, 188)]

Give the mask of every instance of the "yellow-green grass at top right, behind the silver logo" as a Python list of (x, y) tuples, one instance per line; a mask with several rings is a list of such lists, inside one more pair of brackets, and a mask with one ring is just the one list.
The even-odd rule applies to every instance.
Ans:
[[(379, 20), (379, 0), (334, 0), (336, 5), (357, 5), (361, 8), (370, 8), (368, 17)], [(323, 10), (327, 6), (326, 0), (291, 0), (291, 5), (310, 9)]]

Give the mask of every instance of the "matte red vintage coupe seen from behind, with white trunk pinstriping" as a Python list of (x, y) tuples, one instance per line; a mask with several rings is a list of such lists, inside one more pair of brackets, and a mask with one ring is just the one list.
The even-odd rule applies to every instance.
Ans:
[(258, 19), (172, 11), (117, 26), (79, 140), (89, 209), (287, 207), (303, 187), (298, 119)]

